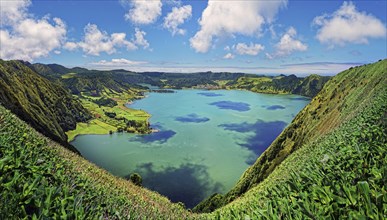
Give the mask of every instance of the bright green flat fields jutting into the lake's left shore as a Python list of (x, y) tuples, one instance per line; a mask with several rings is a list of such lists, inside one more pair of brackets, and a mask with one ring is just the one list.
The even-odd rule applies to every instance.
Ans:
[[(136, 91), (138, 92), (138, 91)], [(82, 94), (80, 100), (86, 109), (90, 111), (93, 120), (88, 123), (78, 123), (75, 130), (66, 132), (68, 141), (74, 140), (77, 135), (81, 134), (108, 134), (110, 131), (116, 132), (119, 128), (126, 128), (125, 120), (135, 120), (141, 123), (148, 123), (150, 115), (143, 110), (127, 108), (125, 105), (131, 100), (138, 98), (136, 92), (127, 91), (117, 93), (112, 90), (105, 89), (100, 97), (87, 96)], [(116, 106), (102, 106), (94, 101), (100, 98), (109, 98), (117, 102)], [(105, 112), (114, 113), (116, 117), (108, 117)], [(125, 120), (123, 120), (125, 119)], [(140, 132), (133, 128), (133, 132)], [(147, 132), (147, 131), (145, 131)]]

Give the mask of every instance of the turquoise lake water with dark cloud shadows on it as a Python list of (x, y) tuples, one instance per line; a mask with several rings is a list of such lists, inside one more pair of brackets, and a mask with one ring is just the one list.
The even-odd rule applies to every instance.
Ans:
[(137, 172), (145, 187), (192, 208), (230, 190), (309, 102), (238, 90), (149, 93), (128, 107), (149, 112), (159, 132), (81, 135), (71, 144), (112, 174)]

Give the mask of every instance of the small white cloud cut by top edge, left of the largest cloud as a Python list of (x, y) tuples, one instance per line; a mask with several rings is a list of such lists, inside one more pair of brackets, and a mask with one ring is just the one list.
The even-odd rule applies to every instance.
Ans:
[(161, 0), (132, 0), (126, 20), (135, 24), (152, 24), (161, 15)]

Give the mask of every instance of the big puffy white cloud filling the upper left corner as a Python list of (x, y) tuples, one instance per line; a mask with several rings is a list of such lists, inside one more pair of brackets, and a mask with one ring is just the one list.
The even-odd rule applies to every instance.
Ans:
[(60, 48), (66, 25), (59, 18), (36, 19), (28, 14), (30, 1), (1, 1), (0, 57), (32, 61)]

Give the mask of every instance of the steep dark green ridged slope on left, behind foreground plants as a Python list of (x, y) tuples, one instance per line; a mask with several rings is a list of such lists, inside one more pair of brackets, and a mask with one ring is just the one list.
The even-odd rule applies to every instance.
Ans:
[(61, 143), (67, 142), (66, 131), (90, 118), (88, 111), (64, 88), (20, 61), (0, 60), (0, 103)]

